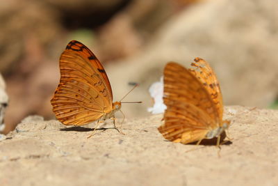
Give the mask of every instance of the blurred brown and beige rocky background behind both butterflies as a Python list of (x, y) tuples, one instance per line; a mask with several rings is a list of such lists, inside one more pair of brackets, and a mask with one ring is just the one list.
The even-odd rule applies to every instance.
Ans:
[[(168, 61), (196, 56), (218, 75), (224, 104), (277, 108), (276, 0), (9, 0), (0, 4), (0, 72), (9, 96), (6, 129), (31, 114), (55, 118), (50, 100), (70, 40), (98, 57), (127, 118), (147, 116), (149, 86)], [(115, 101), (114, 100), (114, 101)]]

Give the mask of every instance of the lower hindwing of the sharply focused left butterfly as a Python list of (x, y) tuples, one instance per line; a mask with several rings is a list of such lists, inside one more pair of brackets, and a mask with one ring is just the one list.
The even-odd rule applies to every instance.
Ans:
[(60, 84), (51, 100), (56, 118), (65, 125), (83, 125), (97, 120), (103, 115), (101, 99), (97, 92), (80, 82)]

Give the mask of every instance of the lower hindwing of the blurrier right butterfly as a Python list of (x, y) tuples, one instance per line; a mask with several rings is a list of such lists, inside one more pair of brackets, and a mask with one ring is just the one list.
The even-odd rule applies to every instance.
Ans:
[(165, 139), (188, 144), (205, 138), (211, 118), (193, 104), (172, 100), (167, 102), (164, 121), (158, 131)]

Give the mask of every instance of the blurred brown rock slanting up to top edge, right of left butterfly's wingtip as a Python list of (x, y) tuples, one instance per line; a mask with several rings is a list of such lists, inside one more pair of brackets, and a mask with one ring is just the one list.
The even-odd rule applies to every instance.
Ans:
[(103, 61), (131, 56), (149, 42), (174, 13), (177, 3), (168, 0), (133, 0), (98, 29), (97, 43)]

